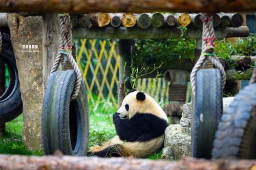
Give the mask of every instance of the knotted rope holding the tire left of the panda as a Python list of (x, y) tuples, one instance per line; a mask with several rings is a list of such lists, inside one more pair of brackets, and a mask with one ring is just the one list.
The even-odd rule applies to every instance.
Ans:
[(71, 101), (72, 101), (76, 99), (79, 93), (81, 81), (82, 81), (82, 74), (75, 59), (72, 56), (72, 45), (71, 45), (72, 30), (70, 25), (69, 14), (58, 14), (58, 16), (59, 16), (59, 24), (60, 24), (60, 44), (59, 44), (59, 51), (58, 51), (57, 57), (52, 66), (51, 74), (57, 70), (58, 65), (60, 63), (60, 59), (63, 57), (64, 60), (66, 61), (68, 57), (69, 62), (73, 66), (76, 73), (75, 88), (71, 96)]

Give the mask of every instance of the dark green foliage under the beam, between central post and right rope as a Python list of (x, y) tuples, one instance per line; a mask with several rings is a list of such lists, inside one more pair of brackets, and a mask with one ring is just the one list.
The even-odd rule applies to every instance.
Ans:
[(135, 43), (136, 67), (160, 65), (163, 67), (194, 59), (196, 40), (186, 39), (140, 39)]

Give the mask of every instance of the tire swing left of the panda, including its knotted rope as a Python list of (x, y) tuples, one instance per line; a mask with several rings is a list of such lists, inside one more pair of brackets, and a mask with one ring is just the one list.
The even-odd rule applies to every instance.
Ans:
[[(66, 155), (87, 154), (89, 110), (86, 87), (72, 56), (71, 30), (68, 14), (59, 14), (60, 49), (51, 70), (45, 91), (41, 116), (41, 143), (45, 155), (60, 150)], [(68, 30), (68, 32), (67, 32)], [(58, 70), (63, 58), (73, 69)]]

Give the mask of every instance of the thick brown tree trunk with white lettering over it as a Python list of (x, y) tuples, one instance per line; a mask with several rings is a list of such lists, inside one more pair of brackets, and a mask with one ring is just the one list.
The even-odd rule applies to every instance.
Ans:
[[(31, 150), (40, 149), (41, 104), (44, 93), (41, 21), (40, 16), (8, 14), (23, 100), (23, 141)], [(31, 49), (23, 49), (23, 45), (29, 45)]]

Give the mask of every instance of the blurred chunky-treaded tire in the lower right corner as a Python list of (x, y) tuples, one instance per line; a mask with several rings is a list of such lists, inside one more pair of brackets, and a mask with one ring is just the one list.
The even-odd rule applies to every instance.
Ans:
[(213, 158), (256, 158), (256, 84), (246, 86), (223, 114)]

